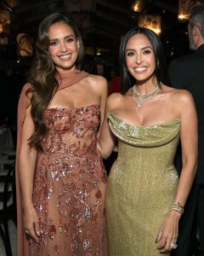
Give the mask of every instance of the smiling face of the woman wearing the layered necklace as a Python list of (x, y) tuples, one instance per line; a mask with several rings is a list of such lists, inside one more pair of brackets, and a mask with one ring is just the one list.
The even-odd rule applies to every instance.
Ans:
[(138, 82), (154, 77), (155, 55), (150, 40), (142, 33), (129, 38), (126, 45), (126, 64), (129, 73)]

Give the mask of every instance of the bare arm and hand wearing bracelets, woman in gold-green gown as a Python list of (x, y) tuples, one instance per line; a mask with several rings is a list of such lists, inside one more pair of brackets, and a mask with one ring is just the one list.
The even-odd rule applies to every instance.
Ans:
[[(180, 98), (181, 97), (181, 98)], [(178, 100), (181, 119), (180, 140), (182, 146), (183, 168), (178, 182), (178, 190), (174, 202), (184, 206), (195, 177), (197, 164), (197, 116), (190, 93), (183, 91)], [(178, 238), (178, 221), (181, 213), (175, 210), (168, 212), (161, 224), (156, 241), (161, 253), (172, 249)]]

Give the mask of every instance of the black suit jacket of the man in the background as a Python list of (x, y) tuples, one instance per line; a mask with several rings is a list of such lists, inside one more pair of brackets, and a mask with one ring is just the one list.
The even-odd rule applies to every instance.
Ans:
[[(198, 115), (198, 166), (195, 184), (204, 183), (204, 44), (194, 53), (171, 61), (168, 74), (174, 88), (189, 90)], [(179, 172), (179, 170), (178, 170)]]

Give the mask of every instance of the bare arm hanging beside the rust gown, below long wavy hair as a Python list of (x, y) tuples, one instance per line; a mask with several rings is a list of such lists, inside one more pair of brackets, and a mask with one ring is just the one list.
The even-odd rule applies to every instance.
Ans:
[(34, 132), (34, 124), (31, 119), (31, 107), (26, 110), (26, 119), (22, 127), (22, 141), (20, 148), (20, 188), (22, 191), (25, 228), (28, 234), (38, 241), (39, 227), (37, 212), (32, 204), (33, 179), (37, 160), (37, 150), (30, 148), (28, 139)]

